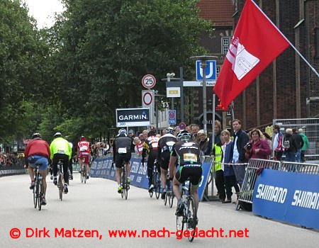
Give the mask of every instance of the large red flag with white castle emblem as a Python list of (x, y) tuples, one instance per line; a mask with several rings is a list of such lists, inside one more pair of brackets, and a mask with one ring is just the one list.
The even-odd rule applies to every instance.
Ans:
[(288, 46), (269, 18), (247, 0), (213, 89), (223, 107), (227, 108)]

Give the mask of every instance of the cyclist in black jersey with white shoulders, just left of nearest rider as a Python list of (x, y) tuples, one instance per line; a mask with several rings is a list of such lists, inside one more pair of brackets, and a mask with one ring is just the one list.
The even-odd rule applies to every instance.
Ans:
[(159, 167), (161, 168), (161, 183), (162, 183), (162, 196), (164, 200), (167, 192), (166, 188), (166, 177), (167, 169), (169, 166), (169, 155), (172, 152), (173, 145), (177, 142), (177, 138), (174, 136), (174, 129), (171, 127), (166, 128), (165, 134), (158, 140), (158, 162)]

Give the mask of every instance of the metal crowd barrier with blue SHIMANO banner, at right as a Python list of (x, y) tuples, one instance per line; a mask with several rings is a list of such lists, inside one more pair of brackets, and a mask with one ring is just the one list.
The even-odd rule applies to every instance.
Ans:
[(319, 229), (319, 164), (250, 159), (236, 208)]

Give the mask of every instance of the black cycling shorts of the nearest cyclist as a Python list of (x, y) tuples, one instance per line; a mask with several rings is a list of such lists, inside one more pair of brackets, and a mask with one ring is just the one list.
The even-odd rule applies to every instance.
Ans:
[(201, 164), (185, 164), (179, 167), (175, 177), (181, 184), (184, 184), (184, 182), (189, 179), (192, 186), (198, 186), (202, 173), (203, 169), (201, 168)]

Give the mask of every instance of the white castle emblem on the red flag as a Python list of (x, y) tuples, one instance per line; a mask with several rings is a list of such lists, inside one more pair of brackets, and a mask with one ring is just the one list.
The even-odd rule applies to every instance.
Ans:
[(232, 69), (238, 80), (245, 77), (245, 75), (259, 63), (259, 59), (250, 54), (244, 45), (239, 43), (238, 37), (233, 38), (226, 57), (228, 61), (233, 64)]

